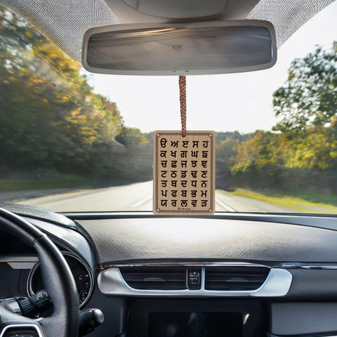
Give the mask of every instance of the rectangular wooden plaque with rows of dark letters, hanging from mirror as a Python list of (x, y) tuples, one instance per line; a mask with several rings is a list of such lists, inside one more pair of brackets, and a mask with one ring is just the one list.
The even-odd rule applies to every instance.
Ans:
[(154, 131), (153, 213), (215, 211), (214, 131)]

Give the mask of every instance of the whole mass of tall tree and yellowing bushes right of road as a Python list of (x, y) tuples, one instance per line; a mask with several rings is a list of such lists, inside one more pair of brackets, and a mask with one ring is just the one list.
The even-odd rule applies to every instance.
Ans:
[(234, 145), (230, 171), (236, 186), (255, 190), (337, 189), (337, 43), (317, 48), (289, 68), (273, 94), (279, 122)]

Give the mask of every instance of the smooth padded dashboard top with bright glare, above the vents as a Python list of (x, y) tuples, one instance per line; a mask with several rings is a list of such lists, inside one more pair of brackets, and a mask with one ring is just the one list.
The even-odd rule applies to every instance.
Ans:
[(251, 220), (129, 218), (78, 220), (98, 262), (199, 258), (291, 262), (337, 261), (337, 232)]

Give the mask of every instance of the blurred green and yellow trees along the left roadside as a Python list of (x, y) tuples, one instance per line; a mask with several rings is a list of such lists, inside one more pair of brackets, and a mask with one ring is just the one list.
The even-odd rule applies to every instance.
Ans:
[(124, 126), (116, 103), (94, 93), (80, 70), (79, 62), (0, 6), (3, 171), (51, 169), (114, 179), (120, 176), (116, 139), (127, 146), (147, 143), (138, 129)]

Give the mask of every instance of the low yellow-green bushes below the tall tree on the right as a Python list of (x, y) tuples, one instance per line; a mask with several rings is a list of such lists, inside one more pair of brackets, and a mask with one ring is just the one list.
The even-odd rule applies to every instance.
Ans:
[(237, 143), (230, 170), (237, 185), (249, 188), (337, 187), (336, 124), (315, 126), (305, 135), (258, 131)]

